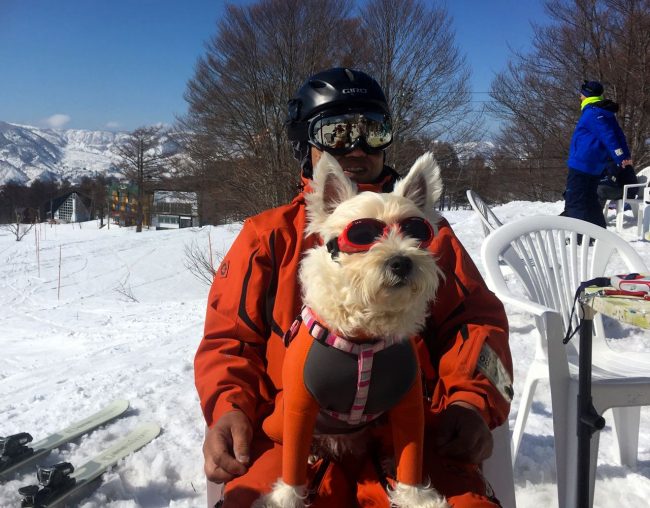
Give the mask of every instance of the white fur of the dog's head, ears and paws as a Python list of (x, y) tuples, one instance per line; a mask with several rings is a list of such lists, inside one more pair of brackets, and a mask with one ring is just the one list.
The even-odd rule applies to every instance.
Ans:
[[(435, 227), (440, 215), (434, 205), (441, 194), (440, 170), (430, 153), (415, 162), (391, 193), (358, 193), (336, 159), (323, 153), (314, 169), (313, 192), (306, 195), (306, 234), (320, 236), (323, 245), (310, 249), (301, 261), (303, 302), (332, 331), (348, 338), (408, 340), (419, 332), (443, 276), (430, 252), (394, 229), (369, 251), (340, 253), (336, 259), (332, 259), (325, 243), (360, 218), (394, 224), (417, 216)], [(413, 270), (407, 277), (399, 278), (389, 269), (388, 260), (394, 256), (411, 259)], [(338, 448), (335, 454), (341, 453)], [(394, 506), (403, 508), (449, 506), (444, 497), (426, 485), (397, 483), (389, 498)], [(278, 480), (271, 493), (253, 506), (303, 508), (304, 503), (305, 486), (290, 486)]]

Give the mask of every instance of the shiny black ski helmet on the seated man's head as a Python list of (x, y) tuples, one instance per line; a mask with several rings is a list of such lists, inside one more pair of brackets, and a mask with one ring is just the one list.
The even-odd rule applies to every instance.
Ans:
[(307, 127), (318, 113), (367, 109), (389, 115), (383, 90), (365, 72), (335, 67), (307, 79), (289, 100), (287, 134), (290, 141), (307, 141)]

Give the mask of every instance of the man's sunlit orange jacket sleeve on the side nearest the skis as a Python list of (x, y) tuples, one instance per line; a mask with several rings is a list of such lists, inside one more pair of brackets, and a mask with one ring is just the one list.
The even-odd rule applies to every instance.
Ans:
[(259, 404), (268, 400), (260, 293), (268, 287), (269, 272), (268, 253), (252, 222), (246, 221), (217, 268), (194, 358), (196, 389), (208, 426), (233, 409), (254, 422)]

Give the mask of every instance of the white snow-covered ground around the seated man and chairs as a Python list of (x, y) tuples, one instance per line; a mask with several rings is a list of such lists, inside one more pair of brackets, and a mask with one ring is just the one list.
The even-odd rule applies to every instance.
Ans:
[[(509, 222), (558, 214), (562, 203), (512, 202), (494, 208)], [(444, 214), (482, 270), (481, 227), (469, 210)], [(85, 508), (203, 507), (203, 419), (192, 361), (202, 334), (208, 287), (184, 266), (195, 242), (224, 252), (237, 226), (174, 231), (41, 225), (21, 242), (0, 229), (0, 435), (30, 432), (38, 441), (117, 398), (127, 416), (55, 450), (47, 464), (80, 465), (138, 422), (163, 433), (104, 476)], [(37, 235), (38, 232), (38, 235)], [(650, 243), (625, 236), (650, 266)], [(37, 240), (38, 239), (38, 255)], [(59, 284), (59, 256), (60, 284)], [(532, 360), (528, 316), (508, 308), (515, 393)], [(643, 334), (631, 347), (650, 350)], [(518, 395), (511, 413), (514, 422)], [(595, 506), (644, 507), (650, 499), (650, 412), (642, 411), (639, 465), (615, 460), (611, 414), (602, 432)], [(27, 472), (0, 485), (0, 506), (17, 506)], [(519, 507), (557, 506), (548, 386), (537, 391), (517, 459)]]

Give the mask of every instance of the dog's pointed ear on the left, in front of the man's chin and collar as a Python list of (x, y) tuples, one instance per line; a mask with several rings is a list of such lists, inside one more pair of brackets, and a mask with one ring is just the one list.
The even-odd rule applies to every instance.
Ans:
[(342, 203), (357, 194), (356, 184), (350, 180), (338, 161), (323, 152), (314, 168), (314, 192), (307, 195), (307, 204), (312, 217), (325, 217)]

